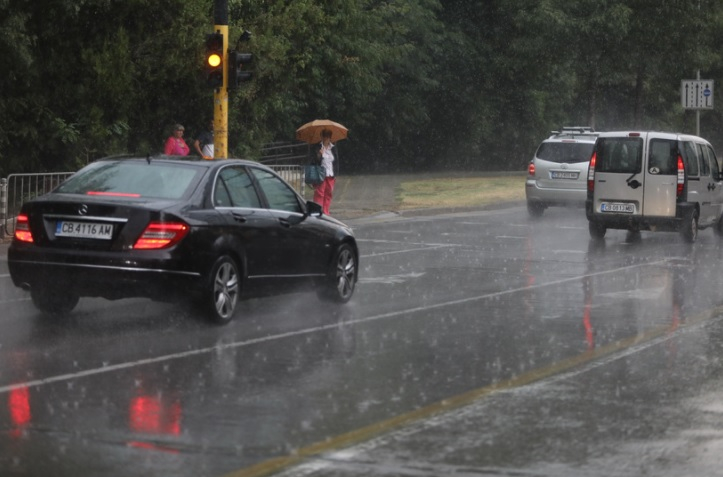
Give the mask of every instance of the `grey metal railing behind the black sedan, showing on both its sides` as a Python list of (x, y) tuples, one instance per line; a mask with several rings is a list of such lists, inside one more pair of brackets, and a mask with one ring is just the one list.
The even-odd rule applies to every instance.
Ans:
[[(304, 168), (295, 165), (269, 165), (305, 197)], [(74, 172), (49, 172), (38, 174), (10, 174), (0, 179), (0, 238), (15, 233), (15, 218), (23, 202), (50, 192)]]

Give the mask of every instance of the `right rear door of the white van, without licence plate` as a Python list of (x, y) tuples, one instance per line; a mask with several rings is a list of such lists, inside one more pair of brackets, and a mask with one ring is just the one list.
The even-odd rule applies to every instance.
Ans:
[(675, 217), (678, 184), (678, 142), (650, 138), (645, 166), (645, 217)]

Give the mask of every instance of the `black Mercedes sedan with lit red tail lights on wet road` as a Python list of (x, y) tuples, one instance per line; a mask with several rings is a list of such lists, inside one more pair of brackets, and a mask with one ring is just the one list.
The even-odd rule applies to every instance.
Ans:
[(13, 283), (44, 313), (85, 296), (189, 297), (218, 323), (242, 297), (299, 286), (345, 303), (358, 263), (348, 226), (231, 159), (101, 159), (25, 203), (8, 251)]

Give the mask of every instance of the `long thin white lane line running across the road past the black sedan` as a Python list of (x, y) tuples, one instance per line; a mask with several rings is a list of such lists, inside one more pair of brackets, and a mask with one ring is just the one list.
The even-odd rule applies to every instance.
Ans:
[(667, 261), (667, 259), (661, 259), (661, 260), (657, 260), (655, 262), (640, 263), (640, 264), (635, 264), (635, 265), (629, 265), (626, 267), (615, 268), (612, 270), (603, 270), (603, 271), (595, 272), (595, 273), (587, 273), (585, 275), (579, 275), (576, 277), (562, 278), (559, 280), (553, 280), (551, 282), (541, 283), (538, 285), (524, 286), (524, 287), (519, 287), (519, 288), (513, 288), (510, 290), (494, 292), (494, 293), (486, 293), (484, 295), (460, 298), (458, 300), (450, 300), (450, 301), (435, 303), (435, 304), (431, 304), (431, 305), (407, 308), (405, 310), (392, 311), (389, 313), (382, 313), (380, 315), (373, 315), (373, 316), (368, 316), (366, 318), (349, 320), (349, 321), (345, 321), (343, 323), (332, 323), (332, 324), (323, 325), (323, 326), (316, 326), (313, 328), (306, 328), (306, 329), (302, 329), (302, 330), (289, 331), (286, 333), (279, 333), (276, 335), (262, 336), (260, 338), (253, 338), (253, 339), (244, 340), (244, 341), (237, 341), (234, 343), (226, 343), (226, 344), (211, 346), (211, 347), (207, 347), (207, 348), (199, 348), (196, 350), (184, 351), (181, 353), (171, 353), (171, 354), (167, 354), (167, 355), (163, 355), (163, 356), (157, 356), (155, 358), (146, 358), (146, 359), (140, 359), (140, 360), (136, 360), (136, 361), (129, 361), (126, 363), (112, 364), (112, 365), (103, 366), (101, 368), (93, 368), (93, 369), (88, 369), (85, 371), (79, 371), (76, 373), (60, 374), (57, 376), (50, 376), (50, 377), (43, 378), (43, 379), (34, 379), (31, 381), (26, 381), (26, 382), (18, 382), (15, 384), (0, 386), (0, 394), (6, 394), (14, 389), (19, 389), (19, 388), (23, 388), (23, 387), (33, 388), (33, 387), (42, 386), (44, 384), (52, 384), (52, 383), (58, 383), (58, 382), (63, 382), (63, 381), (71, 381), (74, 379), (83, 378), (83, 377), (87, 377), (87, 376), (94, 376), (97, 374), (104, 374), (104, 373), (110, 373), (113, 371), (120, 371), (120, 370), (124, 370), (124, 369), (135, 368), (138, 366), (145, 366), (147, 364), (162, 363), (165, 361), (183, 359), (183, 358), (188, 358), (191, 356), (197, 356), (197, 355), (201, 355), (201, 354), (219, 352), (219, 351), (223, 351), (226, 349), (242, 348), (242, 347), (252, 346), (252, 345), (256, 345), (256, 344), (260, 344), (260, 343), (268, 343), (271, 341), (277, 341), (277, 340), (282, 340), (282, 339), (296, 337), (296, 336), (304, 336), (304, 335), (316, 333), (319, 331), (327, 331), (327, 330), (333, 330), (336, 328), (341, 328), (342, 326), (370, 323), (373, 321), (396, 318), (399, 316), (409, 315), (411, 313), (417, 313), (417, 312), (421, 312), (421, 311), (430, 311), (430, 310), (436, 310), (439, 308), (445, 308), (448, 306), (464, 305), (464, 304), (472, 303), (475, 301), (487, 300), (490, 298), (496, 298), (496, 297), (501, 297), (501, 296), (505, 296), (505, 295), (512, 295), (514, 293), (519, 293), (519, 292), (523, 292), (523, 291), (535, 290), (535, 289), (540, 289), (540, 288), (544, 288), (544, 287), (575, 282), (575, 281), (581, 280), (583, 278), (600, 276), (600, 275), (608, 275), (608, 274), (612, 274), (612, 273), (618, 273), (618, 272), (622, 272), (625, 270), (632, 270), (632, 269), (641, 268), (641, 267), (657, 266), (657, 265), (666, 263), (666, 261)]

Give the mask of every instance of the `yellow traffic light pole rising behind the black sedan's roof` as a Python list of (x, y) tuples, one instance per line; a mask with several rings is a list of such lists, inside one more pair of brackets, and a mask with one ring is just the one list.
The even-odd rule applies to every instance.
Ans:
[(214, 0), (213, 30), (223, 35), (223, 84), (213, 91), (213, 156), (228, 158), (228, 1)]

